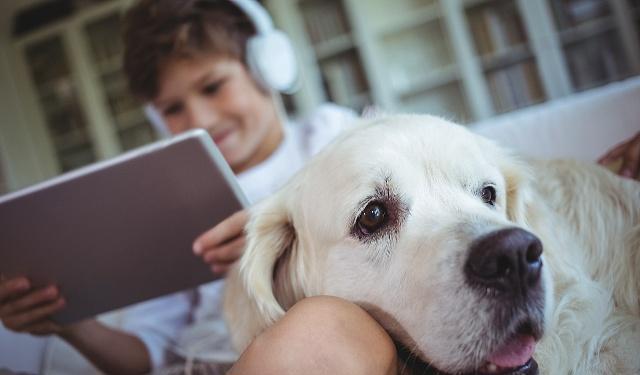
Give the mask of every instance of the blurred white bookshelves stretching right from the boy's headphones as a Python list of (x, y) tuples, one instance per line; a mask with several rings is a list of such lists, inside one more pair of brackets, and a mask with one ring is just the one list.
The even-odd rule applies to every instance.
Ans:
[[(355, 109), (370, 100), (389, 111), (471, 122), (640, 73), (638, 0), (265, 0), (265, 5), (293, 36), (304, 61), (305, 83), (293, 96), (303, 113), (338, 98)], [(323, 26), (329, 14), (338, 21)], [(317, 34), (312, 28), (332, 33), (319, 38), (309, 35)], [(351, 65), (342, 73), (327, 66), (337, 56), (347, 56), (343, 63)], [(349, 82), (348, 74), (356, 78)], [(361, 99), (344, 99), (358, 95)]]

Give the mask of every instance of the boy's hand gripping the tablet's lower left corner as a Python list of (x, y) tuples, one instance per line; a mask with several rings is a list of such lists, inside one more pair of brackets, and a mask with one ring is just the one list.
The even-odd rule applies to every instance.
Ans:
[(24, 277), (0, 276), (0, 321), (11, 331), (38, 336), (59, 333), (62, 328), (49, 317), (64, 305), (55, 286), (35, 290)]

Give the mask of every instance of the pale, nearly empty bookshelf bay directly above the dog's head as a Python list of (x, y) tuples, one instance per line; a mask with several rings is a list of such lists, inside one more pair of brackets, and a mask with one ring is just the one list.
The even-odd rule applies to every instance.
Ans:
[[(400, 0), (393, 9), (383, 0), (360, 4), (374, 35), (374, 59), (383, 64), (381, 80), (391, 98), (382, 106), (467, 120), (470, 111), (460, 66), (451, 48), (439, 1)], [(378, 103), (376, 103), (378, 104)]]

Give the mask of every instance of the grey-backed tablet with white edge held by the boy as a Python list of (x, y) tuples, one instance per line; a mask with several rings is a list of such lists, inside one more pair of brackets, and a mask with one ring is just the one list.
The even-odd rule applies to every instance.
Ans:
[(220, 277), (193, 241), (247, 205), (192, 130), (0, 197), (0, 273), (57, 285), (75, 322)]

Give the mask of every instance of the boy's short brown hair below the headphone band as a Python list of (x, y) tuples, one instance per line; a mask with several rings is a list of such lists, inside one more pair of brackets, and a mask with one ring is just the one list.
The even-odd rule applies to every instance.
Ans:
[(229, 0), (140, 0), (124, 20), (124, 71), (142, 100), (158, 94), (164, 65), (180, 58), (223, 56), (246, 64), (245, 46), (256, 33)]

